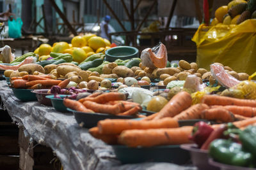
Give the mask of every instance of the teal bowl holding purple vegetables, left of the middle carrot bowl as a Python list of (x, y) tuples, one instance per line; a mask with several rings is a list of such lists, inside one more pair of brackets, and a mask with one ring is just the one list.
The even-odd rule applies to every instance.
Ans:
[(56, 111), (60, 112), (70, 112), (67, 110), (67, 107), (63, 104), (64, 97), (70, 96), (65, 94), (58, 94), (61, 99), (54, 98), (54, 95), (45, 96), (48, 99), (51, 99), (52, 106), (55, 108)]

